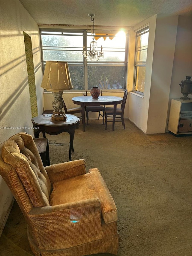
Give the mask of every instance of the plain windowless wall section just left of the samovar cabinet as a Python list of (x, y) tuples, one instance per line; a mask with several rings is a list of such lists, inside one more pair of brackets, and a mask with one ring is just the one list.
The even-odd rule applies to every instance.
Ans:
[(178, 18), (157, 15), (146, 133), (165, 133)]

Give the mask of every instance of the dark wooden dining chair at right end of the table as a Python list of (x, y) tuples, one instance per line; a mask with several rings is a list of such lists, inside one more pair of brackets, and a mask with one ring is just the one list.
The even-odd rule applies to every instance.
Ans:
[[(115, 122), (122, 122), (123, 128), (125, 129), (125, 121), (124, 121), (124, 110), (125, 110), (125, 103), (127, 100), (128, 90), (126, 89), (124, 92), (122, 104), (120, 108), (117, 108), (116, 111), (116, 118), (121, 118), (121, 120), (115, 120)], [(105, 130), (107, 130), (107, 122), (113, 122), (113, 120), (107, 120), (107, 117), (113, 118), (114, 108), (113, 107), (106, 107), (105, 108)]]

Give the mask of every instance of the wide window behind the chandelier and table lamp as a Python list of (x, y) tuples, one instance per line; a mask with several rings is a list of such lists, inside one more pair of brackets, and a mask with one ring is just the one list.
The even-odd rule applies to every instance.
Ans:
[(66, 61), (73, 90), (124, 90), (127, 74), (128, 32), (95, 31), (98, 50), (104, 58), (86, 61), (83, 45), (88, 50), (93, 35), (87, 30), (40, 29), (43, 67), (47, 60)]

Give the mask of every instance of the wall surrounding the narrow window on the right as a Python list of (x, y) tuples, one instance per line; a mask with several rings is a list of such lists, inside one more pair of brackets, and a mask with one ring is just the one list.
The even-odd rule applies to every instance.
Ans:
[[(137, 125), (142, 131), (147, 131), (147, 120), (149, 111), (149, 97), (151, 90), (151, 77), (152, 77), (152, 64), (153, 64), (153, 52), (155, 44), (155, 28), (156, 28), (157, 16), (154, 15), (143, 22), (137, 24), (131, 29), (131, 44), (129, 55), (129, 75), (128, 75), (128, 118)], [(144, 97), (131, 93), (133, 90), (133, 78), (134, 78), (134, 60), (135, 60), (135, 42), (136, 32), (143, 27), (149, 25), (149, 42), (147, 51), (147, 65), (146, 65), (146, 82)]]

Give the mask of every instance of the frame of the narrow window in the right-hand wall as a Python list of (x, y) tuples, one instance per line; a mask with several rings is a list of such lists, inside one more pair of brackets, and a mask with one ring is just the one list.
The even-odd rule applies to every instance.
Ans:
[(141, 35), (146, 34), (146, 33), (149, 33), (149, 25), (143, 27), (142, 29), (140, 29), (138, 31), (136, 31), (133, 92), (136, 92), (136, 93), (138, 93), (140, 95), (144, 95), (145, 84), (144, 84), (143, 92), (141, 92), (141, 91), (136, 89), (136, 86), (137, 86), (137, 70), (138, 70), (139, 67), (146, 67), (146, 64), (147, 64), (147, 54), (146, 54), (146, 61), (142, 61), (142, 63), (138, 63), (138, 61), (137, 61), (137, 53), (141, 52), (142, 50), (147, 50), (148, 51), (149, 36), (148, 36), (148, 43), (147, 43), (147, 46), (146, 46), (145, 49), (138, 50), (139, 47), (137, 47), (137, 44), (138, 44), (139, 37)]

